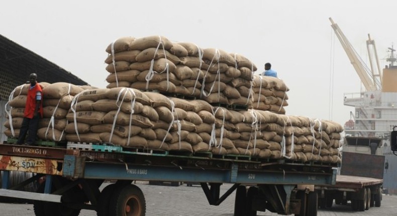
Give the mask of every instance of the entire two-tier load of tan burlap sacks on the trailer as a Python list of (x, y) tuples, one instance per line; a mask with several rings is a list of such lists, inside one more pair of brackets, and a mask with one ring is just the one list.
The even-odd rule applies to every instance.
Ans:
[[(121, 38), (107, 52), (107, 88), (43, 86), (48, 114), (40, 124), (41, 139), (340, 162), (343, 128), (331, 121), (283, 115), (287, 86), (275, 77), (252, 75), (256, 67), (241, 55), (158, 36)], [(68, 91), (47, 92), (57, 85), (67, 85)], [(48, 98), (53, 101), (46, 102)], [(15, 113), (24, 105), (13, 100), (9, 118), (16, 131), (21, 115)], [(227, 110), (215, 102), (250, 109)], [(7, 136), (18, 136), (9, 133), (10, 124), (6, 127)]]

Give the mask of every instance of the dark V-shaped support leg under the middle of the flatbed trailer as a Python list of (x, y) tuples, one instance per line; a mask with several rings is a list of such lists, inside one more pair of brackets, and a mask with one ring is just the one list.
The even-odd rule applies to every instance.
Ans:
[(240, 185), (234, 184), (225, 192), (225, 194), (219, 197), (222, 185), (221, 183), (210, 183), (210, 187), (208, 187), (206, 182), (201, 182), (200, 184), (210, 205), (220, 205)]

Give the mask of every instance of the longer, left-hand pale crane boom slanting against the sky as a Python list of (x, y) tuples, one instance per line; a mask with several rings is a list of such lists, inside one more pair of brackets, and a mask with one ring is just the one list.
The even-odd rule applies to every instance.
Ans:
[(356, 51), (354, 50), (353, 46), (347, 40), (346, 36), (343, 34), (342, 30), (339, 26), (334, 23), (334, 21), (330, 18), (332, 23), (331, 27), (334, 29), (336, 36), (338, 37), (343, 49), (345, 50), (347, 56), (350, 59), (350, 63), (353, 65), (354, 69), (356, 70), (358, 76), (361, 79), (365, 89), (367, 91), (376, 90), (376, 85), (374, 84), (373, 80), (370, 77), (370, 72), (366, 67), (364, 67), (364, 63), (361, 58), (358, 56)]

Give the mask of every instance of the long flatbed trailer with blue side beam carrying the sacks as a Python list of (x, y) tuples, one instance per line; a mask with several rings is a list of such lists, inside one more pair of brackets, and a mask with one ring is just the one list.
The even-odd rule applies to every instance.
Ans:
[[(314, 185), (332, 185), (336, 164), (251, 158), (241, 155), (129, 149), (104, 144), (68, 143), (64, 148), (0, 144), (0, 195), (34, 200), (36, 215), (145, 215), (144, 194), (133, 183), (197, 182), (209, 204), (219, 205), (234, 190), (235, 214), (317, 215)], [(9, 187), (12, 171), (33, 177)], [(105, 180), (112, 183), (100, 191)], [(37, 182), (37, 192), (22, 191)], [(220, 194), (223, 183), (232, 183)]]

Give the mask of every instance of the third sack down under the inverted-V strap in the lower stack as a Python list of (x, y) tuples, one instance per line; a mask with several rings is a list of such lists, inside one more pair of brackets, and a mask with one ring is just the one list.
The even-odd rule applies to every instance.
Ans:
[(150, 120), (147, 117), (144, 117), (139, 114), (130, 115), (130, 114), (125, 114), (123, 112), (117, 113), (117, 111), (110, 111), (104, 116), (103, 120), (104, 123), (113, 124), (115, 118), (117, 125), (128, 126), (130, 125), (130, 121), (131, 121), (131, 125), (136, 125), (142, 128), (153, 127), (153, 124), (150, 122)]

